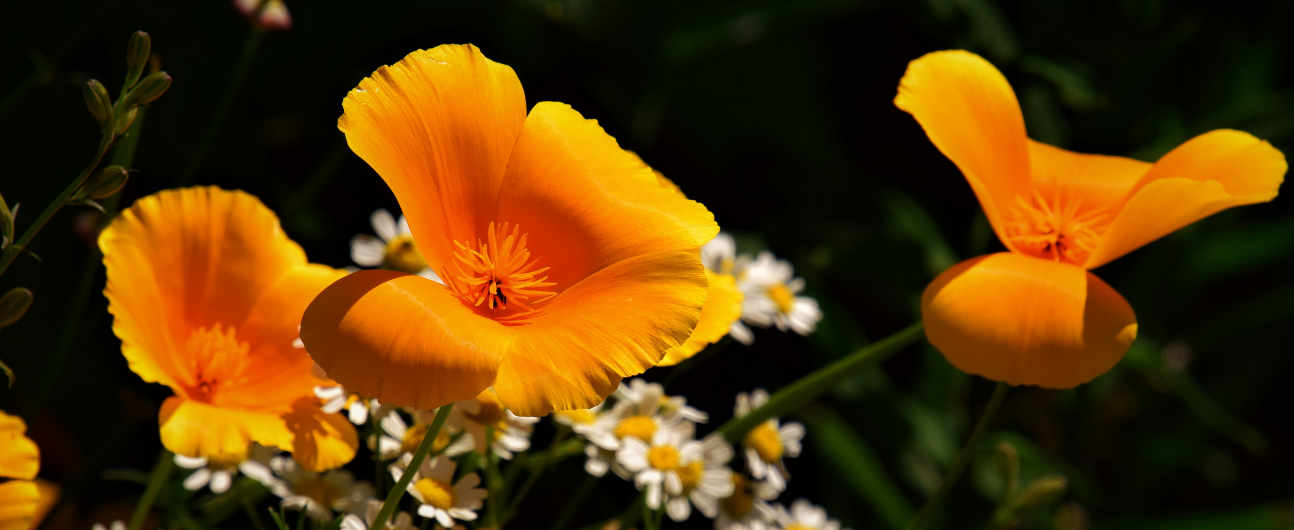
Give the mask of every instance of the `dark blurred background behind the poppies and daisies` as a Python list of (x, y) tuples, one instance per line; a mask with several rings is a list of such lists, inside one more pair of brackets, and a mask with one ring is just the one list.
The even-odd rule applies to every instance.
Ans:
[[(1154, 160), (1215, 128), (1251, 132), (1286, 153), (1294, 140), (1288, 1), (303, 0), (289, 8), (295, 26), (260, 43), (192, 184), (260, 196), (312, 261), (349, 265), (349, 238), (371, 233), (373, 209), (397, 204), (336, 131), (343, 96), (414, 49), (474, 43), (516, 70), (529, 105), (563, 101), (598, 119), (705, 203), (743, 249), (771, 249), (807, 279), (826, 313), (818, 334), (761, 331), (753, 348), (730, 346), (672, 383), (672, 393), (712, 414), (710, 425), (731, 416), (736, 392), (780, 388), (907, 326), (934, 274), (1002, 248), (956, 168), (892, 103), (907, 62), (923, 53), (965, 48), (991, 59), (1020, 96), (1030, 136), (1079, 151)], [(0, 193), (23, 204), (19, 230), (92, 155), (98, 132), (80, 85), (96, 78), (116, 93), (135, 30), (151, 34), (175, 84), (148, 111), (123, 206), (180, 182), (248, 23), (219, 0), (0, 5)], [(0, 359), (18, 372), (13, 389), (0, 390), (0, 408), (30, 421), (41, 476), (65, 486), (49, 527), (123, 517), (141, 486), (104, 472), (151, 465), (157, 406), (168, 394), (141, 383), (119, 354), (83, 228), (93, 216), (63, 209), (31, 246), (41, 261), (22, 257), (0, 279), (0, 288), (36, 293), (28, 315), (0, 334)], [(1288, 526), (1291, 230), (1294, 211), (1281, 196), (1099, 269), (1136, 309), (1139, 341), (1079, 389), (1008, 394), (994, 437), (1014, 442), (1026, 480), (1065, 474), (1068, 509), (1082, 507), (1093, 527)], [(84, 312), (72, 319), (79, 304)], [(1184, 371), (1162, 359), (1168, 345), (1174, 359), (1188, 361)], [(990, 389), (928, 346), (894, 355), (801, 414), (806, 449), (788, 463), (783, 502), (806, 496), (854, 529), (890, 526), (879, 513), (920, 505)], [(542, 427), (536, 446), (550, 436)], [(581, 480), (580, 460), (563, 463), (512, 526), (547, 527)], [(992, 468), (983, 464), (954, 490), (949, 527), (982, 527), (990, 516)], [(352, 468), (371, 476), (366, 452)], [(633, 494), (606, 480), (575, 524), (616, 513)], [(1022, 524), (1052, 527), (1051, 513), (1044, 507)], [(694, 514), (686, 526), (709, 522)]]

